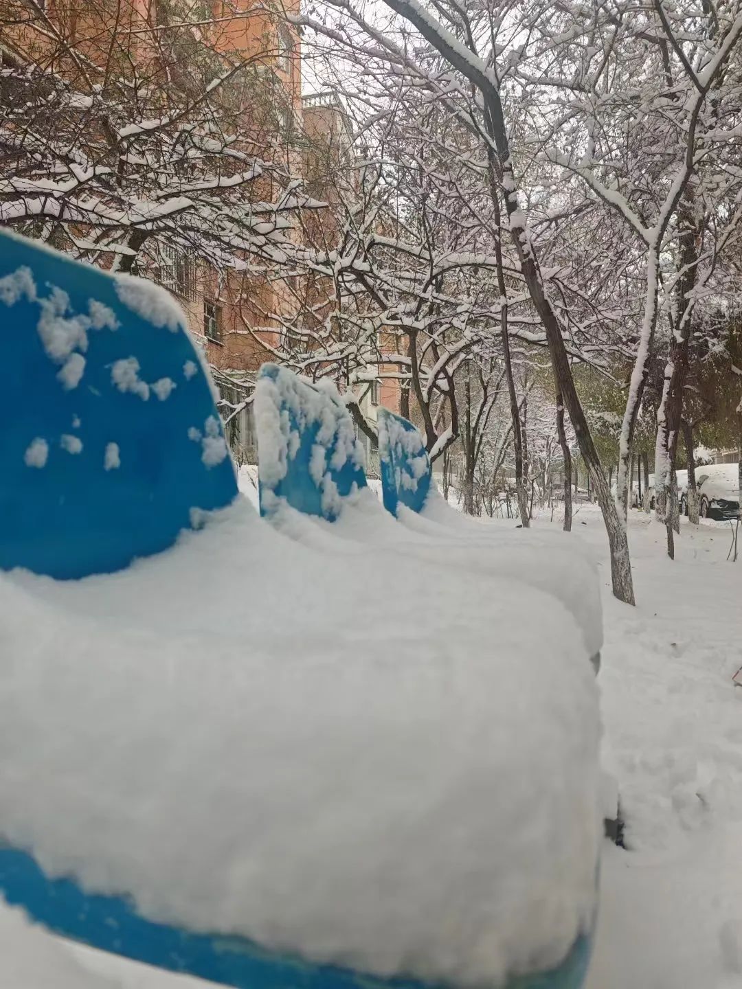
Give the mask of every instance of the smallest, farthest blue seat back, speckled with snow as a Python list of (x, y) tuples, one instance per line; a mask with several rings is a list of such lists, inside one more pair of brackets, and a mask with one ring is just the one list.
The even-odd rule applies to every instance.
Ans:
[(388, 408), (379, 409), (378, 424), (384, 507), (393, 515), (401, 504), (421, 511), (430, 490), (432, 468), (419, 430)]

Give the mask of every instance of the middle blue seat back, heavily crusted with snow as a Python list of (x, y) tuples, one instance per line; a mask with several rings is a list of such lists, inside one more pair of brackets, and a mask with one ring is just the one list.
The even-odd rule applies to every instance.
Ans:
[(366, 475), (353, 421), (333, 386), (263, 364), (254, 402), (260, 513), (285, 500), (334, 521)]

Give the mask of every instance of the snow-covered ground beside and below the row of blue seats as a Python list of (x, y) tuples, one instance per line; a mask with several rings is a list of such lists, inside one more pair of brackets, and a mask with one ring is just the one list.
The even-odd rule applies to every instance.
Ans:
[[(639, 603), (629, 608), (610, 595), (594, 506), (580, 506), (575, 530), (601, 561), (606, 761), (631, 850), (604, 848), (588, 989), (742, 987), (742, 689), (731, 679), (742, 666), (742, 560), (725, 560), (728, 524), (694, 532), (684, 520), (671, 563), (664, 530), (632, 511)], [(104, 976), (100, 989), (204, 985), (63, 946)]]

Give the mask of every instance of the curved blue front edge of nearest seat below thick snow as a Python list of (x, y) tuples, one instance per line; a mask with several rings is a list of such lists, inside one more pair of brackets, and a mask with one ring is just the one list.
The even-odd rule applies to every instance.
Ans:
[[(246, 939), (154, 924), (117, 896), (84, 892), (70, 879), (49, 879), (36, 860), (0, 848), (0, 890), (50, 931), (170, 971), (236, 989), (435, 989), (408, 978), (379, 978), (266, 951)], [(580, 937), (549, 972), (511, 979), (504, 989), (580, 989), (591, 939)]]

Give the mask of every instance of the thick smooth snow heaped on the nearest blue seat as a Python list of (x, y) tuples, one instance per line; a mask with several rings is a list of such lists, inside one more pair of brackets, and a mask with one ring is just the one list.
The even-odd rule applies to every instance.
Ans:
[(49, 872), (462, 984), (589, 926), (596, 686), (553, 597), (239, 499), (119, 574), (2, 575), (0, 611), (0, 831)]

